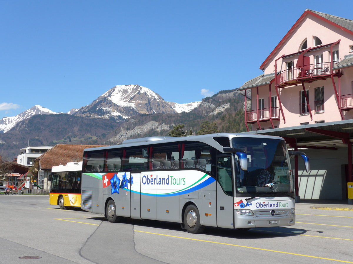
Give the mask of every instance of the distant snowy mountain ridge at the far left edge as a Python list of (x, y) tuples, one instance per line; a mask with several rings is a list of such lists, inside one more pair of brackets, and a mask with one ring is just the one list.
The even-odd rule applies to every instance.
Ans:
[(40, 105), (35, 105), (34, 107), (23, 111), (22, 113), (16, 115), (15, 117), (4, 117), (0, 119), (0, 133), (6, 133), (12, 127), (14, 127), (18, 122), (30, 118), (34, 115), (48, 115), (48, 114), (56, 114), (52, 110), (42, 107)]

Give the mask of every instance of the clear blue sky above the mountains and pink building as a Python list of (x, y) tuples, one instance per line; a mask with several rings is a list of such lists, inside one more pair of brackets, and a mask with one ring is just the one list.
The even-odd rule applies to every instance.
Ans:
[(353, 19), (351, 1), (1, 0), (0, 118), (122, 84), (177, 103), (238, 88), (306, 8)]

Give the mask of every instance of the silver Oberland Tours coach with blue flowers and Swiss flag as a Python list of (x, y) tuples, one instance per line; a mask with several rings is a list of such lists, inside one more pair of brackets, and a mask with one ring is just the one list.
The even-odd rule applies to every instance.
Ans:
[(294, 176), (281, 137), (146, 137), (85, 149), (81, 208), (121, 217), (242, 228), (295, 224)]

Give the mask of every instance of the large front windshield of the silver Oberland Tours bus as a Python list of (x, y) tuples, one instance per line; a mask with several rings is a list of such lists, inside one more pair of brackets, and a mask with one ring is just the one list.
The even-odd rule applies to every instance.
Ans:
[(232, 144), (234, 148), (245, 150), (248, 160), (247, 170), (243, 171), (235, 155), (237, 196), (294, 193), (294, 177), (285, 140), (235, 137)]

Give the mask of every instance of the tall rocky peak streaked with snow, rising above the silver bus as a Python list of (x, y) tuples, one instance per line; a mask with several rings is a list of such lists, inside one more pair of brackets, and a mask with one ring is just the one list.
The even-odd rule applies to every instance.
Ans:
[(117, 85), (74, 115), (122, 120), (137, 114), (175, 113), (172, 106), (152, 90), (133, 85)]

